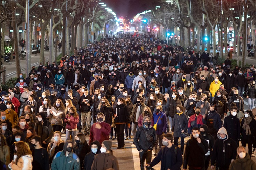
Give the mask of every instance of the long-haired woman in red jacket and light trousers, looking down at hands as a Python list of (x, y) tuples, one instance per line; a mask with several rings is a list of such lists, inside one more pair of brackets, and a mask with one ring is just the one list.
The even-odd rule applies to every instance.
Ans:
[(75, 106), (72, 106), (69, 108), (69, 113), (67, 114), (64, 122), (66, 123), (66, 141), (70, 139), (71, 135), (71, 139), (74, 144), (78, 121), (79, 116), (76, 112), (76, 108)]

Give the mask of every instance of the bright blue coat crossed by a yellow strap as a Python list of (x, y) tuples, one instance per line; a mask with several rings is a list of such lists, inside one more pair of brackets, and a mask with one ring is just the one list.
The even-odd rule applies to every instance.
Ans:
[[(159, 118), (160, 117), (160, 118)], [(159, 118), (159, 120), (158, 120)], [(157, 120), (157, 127), (156, 127), (156, 134), (162, 135), (163, 133), (166, 133), (167, 130), (167, 118), (166, 115), (163, 112), (160, 113), (154, 113), (153, 114), (154, 124), (156, 124)]]

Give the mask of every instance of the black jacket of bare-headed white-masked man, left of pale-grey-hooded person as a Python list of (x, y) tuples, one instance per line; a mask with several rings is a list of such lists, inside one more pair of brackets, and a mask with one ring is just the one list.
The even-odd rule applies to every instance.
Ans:
[(204, 167), (204, 157), (208, 152), (209, 146), (205, 139), (200, 135), (201, 143), (198, 143), (197, 139), (192, 137), (187, 141), (187, 145), (184, 153), (183, 168), (189, 167)]

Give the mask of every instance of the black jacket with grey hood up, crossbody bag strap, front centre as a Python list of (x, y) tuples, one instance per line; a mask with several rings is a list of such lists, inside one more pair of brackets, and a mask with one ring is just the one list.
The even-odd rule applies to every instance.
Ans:
[[(148, 118), (150, 119), (148, 116), (145, 116), (143, 118), (143, 125), (140, 126), (138, 128), (138, 130), (136, 131), (135, 137), (134, 137), (134, 144), (137, 148), (138, 151), (143, 150), (143, 151), (147, 151), (147, 150), (153, 150), (155, 144), (156, 144), (156, 131), (155, 129), (150, 125), (151, 124), (151, 120), (150, 120), (150, 124), (148, 125), (148, 128), (144, 125), (144, 121), (145, 119)], [(147, 140), (146, 134), (150, 135), (151, 137), (153, 137), (153, 141), (149, 142)]]

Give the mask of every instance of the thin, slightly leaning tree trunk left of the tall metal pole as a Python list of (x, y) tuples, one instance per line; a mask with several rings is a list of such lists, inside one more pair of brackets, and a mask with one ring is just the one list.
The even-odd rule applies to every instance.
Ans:
[[(15, 7), (16, 5), (12, 3), (12, 9), (15, 9)], [(18, 44), (18, 33), (17, 33), (17, 23), (16, 23), (16, 10), (12, 11), (12, 27), (13, 27), (14, 50), (15, 50), (16, 75), (17, 77), (19, 77), (19, 74), (21, 73), (21, 68), (20, 68), (20, 60), (19, 60), (19, 44)]]

